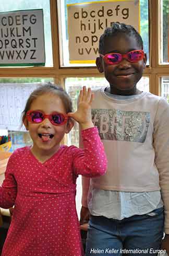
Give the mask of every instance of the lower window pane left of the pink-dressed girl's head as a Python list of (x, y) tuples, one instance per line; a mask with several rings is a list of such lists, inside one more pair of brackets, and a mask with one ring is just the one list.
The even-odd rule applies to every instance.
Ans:
[(0, 78), (0, 136), (6, 130), (10, 152), (32, 144), (29, 132), (21, 126), (21, 112), (31, 92), (44, 82), (53, 82), (53, 78)]

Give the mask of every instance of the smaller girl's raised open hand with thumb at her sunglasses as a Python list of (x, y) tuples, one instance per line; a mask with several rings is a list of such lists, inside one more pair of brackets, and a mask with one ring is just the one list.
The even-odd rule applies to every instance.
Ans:
[(80, 90), (78, 108), (74, 113), (68, 113), (68, 117), (75, 119), (80, 125), (82, 130), (94, 127), (91, 117), (91, 104), (93, 101), (94, 95), (91, 92), (91, 88), (86, 88), (83, 86)]

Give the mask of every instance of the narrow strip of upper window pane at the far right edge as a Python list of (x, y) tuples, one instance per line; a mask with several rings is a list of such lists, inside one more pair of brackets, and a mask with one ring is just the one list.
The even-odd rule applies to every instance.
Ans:
[(161, 0), (161, 63), (166, 64), (169, 61), (168, 56), (168, 0)]

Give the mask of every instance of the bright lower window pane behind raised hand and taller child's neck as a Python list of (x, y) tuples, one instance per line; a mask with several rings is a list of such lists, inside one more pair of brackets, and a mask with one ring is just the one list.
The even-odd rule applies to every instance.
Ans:
[[(65, 79), (65, 88), (68, 94), (70, 95), (73, 101), (74, 110), (77, 109), (77, 98), (79, 95), (79, 91), (82, 86), (94, 88), (100, 88), (104, 86), (109, 86), (107, 80), (103, 77), (71, 77)], [(149, 77), (142, 77), (137, 85), (137, 88), (141, 91), (149, 91)], [(75, 126), (68, 134), (68, 144), (75, 145), (78, 147), (79, 144), (79, 127), (78, 124), (75, 123)]]

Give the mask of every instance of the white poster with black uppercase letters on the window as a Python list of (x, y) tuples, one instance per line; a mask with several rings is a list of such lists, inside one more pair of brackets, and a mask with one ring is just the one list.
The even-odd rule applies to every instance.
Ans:
[(43, 10), (0, 13), (0, 66), (44, 66)]

